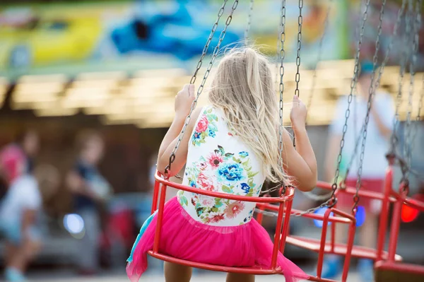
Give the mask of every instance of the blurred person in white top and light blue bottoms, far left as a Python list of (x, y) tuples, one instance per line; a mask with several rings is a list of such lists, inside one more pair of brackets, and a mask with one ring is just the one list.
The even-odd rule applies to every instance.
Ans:
[(40, 165), (33, 175), (16, 177), (0, 204), (0, 233), (6, 238), (6, 281), (25, 281), (25, 271), (40, 250), (40, 211), (43, 196), (59, 187), (59, 172)]

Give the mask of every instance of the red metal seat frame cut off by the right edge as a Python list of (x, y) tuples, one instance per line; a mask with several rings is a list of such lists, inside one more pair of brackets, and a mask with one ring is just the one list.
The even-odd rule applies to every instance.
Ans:
[[(416, 274), (424, 276), (424, 266), (405, 264), (396, 261), (396, 247), (399, 238), (399, 225), (401, 223), (401, 208), (406, 204), (419, 211), (424, 211), (424, 202), (412, 200), (406, 197), (408, 187), (404, 183), (399, 185), (399, 193), (394, 192), (391, 187), (393, 183), (393, 168), (389, 166), (386, 172), (386, 185), (384, 187), (384, 200), (382, 206), (382, 213), (380, 215), (379, 237), (377, 240), (377, 257), (379, 260), (375, 263), (375, 269), (378, 271), (399, 271), (401, 273)], [(405, 189), (406, 188), (406, 189)], [(384, 259), (382, 249), (386, 240), (387, 233), (387, 218), (389, 217), (389, 198), (394, 198), (394, 209), (391, 217), (391, 228), (389, 234), (389, 254)]]

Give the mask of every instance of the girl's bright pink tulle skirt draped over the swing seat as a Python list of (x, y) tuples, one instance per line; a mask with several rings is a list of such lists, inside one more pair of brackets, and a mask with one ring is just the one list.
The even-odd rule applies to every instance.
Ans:
[[(139, 281), (147, 269), (147, 252), (153, 249), (157, 216), (148, 225), (126, 266), (132, 282)], [(159, 252), (192, 262), (221, 266), (257, 266), (269, 268), (273, 242), (266, 230), (252, 221), (237, 226), (212, 226), (195, 221), (179, 204), (177, 197), (165, 204)], [(278, 253), (278, 265), (285, 281), (295, 282), (308, 276)]]

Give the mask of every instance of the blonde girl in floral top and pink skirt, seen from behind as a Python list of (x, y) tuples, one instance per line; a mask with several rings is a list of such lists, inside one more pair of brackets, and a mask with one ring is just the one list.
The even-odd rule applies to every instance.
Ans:
[[(158, 170), (163, 172), (194, 100), (186, 85), (175, 99), (175, 118), (160, 146)], [(283, 180), (302, 191), (317, 182), (317, 162), (305, 129), (306, 107), (293, 98), (290, 114), (296, 146), (283, 131), (283, 160), (278, 165), (278, 102), (267, 60), (253, 49), (225, 56), (209, 93), (211, 105), (197, 109), (177, 151), (170, 175), (186, 165), (183, 184), (209, 191), (258, 196), (264, 180)], [(286, 174), (287, 173), (287, 174)], [(273, 242), (252, 218), (255, 204), (216, 199), (180, 191), (167, 201), (160, 252), (179, 259), (222, 266), (271, 264)], [(155, 214), (141, 228), (128, 259), (127, 274), (138, 281), (146, 270), (146, 252), (153, 248)], [(278, 254), (286, 281), (307, 278)], [(167, 282), (190, 281), (192, 269), (165, 263)], [(228, 282), (254, 281), (247, 274), (228, 274)]]

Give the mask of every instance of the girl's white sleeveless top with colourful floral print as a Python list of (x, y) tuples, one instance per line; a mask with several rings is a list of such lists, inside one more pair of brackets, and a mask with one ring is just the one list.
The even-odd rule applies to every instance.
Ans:
[[(192, 132), (183, 184), (199, 189), (258, 196), (265, 177), (259, 158), (232, 134), (215, 107), (204, 107)], [(248, 223), (256, 204), (178, 192), (179, 204), (194, 220), (208, 225)]]

